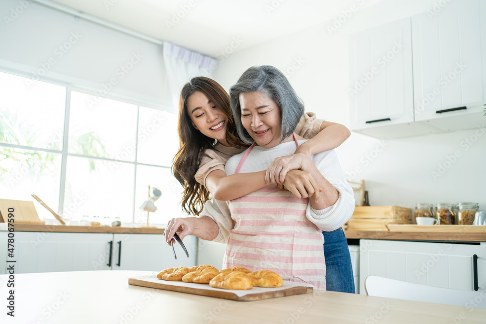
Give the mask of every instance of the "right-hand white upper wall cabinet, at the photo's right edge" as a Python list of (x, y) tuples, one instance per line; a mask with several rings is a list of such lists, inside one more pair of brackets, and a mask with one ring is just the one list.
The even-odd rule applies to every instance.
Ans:
[(416, 121), (476, 127), (486, 94), (485, 13), (484, 1), (461, 0), (412, 17)]

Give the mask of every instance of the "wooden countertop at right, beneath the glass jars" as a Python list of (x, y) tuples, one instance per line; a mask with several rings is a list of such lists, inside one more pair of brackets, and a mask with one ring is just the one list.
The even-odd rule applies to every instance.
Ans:
[[(453, 226), (453, 225), (451, 225)], [(396, 239), (414, 241), (462, 241), (486, 242), (486, 233), (456, 232), (390, 232), (390, 231), (344, 231), (347, 239)]]

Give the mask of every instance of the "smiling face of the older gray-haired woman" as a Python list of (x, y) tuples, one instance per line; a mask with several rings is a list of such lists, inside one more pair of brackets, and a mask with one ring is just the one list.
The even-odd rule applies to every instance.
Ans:
[(240, 94), (243, 127), (261, 147), (280, 143), (282, 119), (280, 108), (266, 93), (252, 91)]

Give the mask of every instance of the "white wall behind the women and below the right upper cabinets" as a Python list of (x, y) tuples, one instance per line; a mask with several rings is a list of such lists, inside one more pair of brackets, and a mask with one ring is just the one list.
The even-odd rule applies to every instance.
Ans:
[[(303, 98), (306, 110), (349, 127), (348, 35), (433, 9), (435, 2), (438, 1), (385, 0), (359, 10), (357, 1), (358, 10), (334, 33), (329, 33), (327, 26), (333, 21), (328, 21), (233, 53), (221, 62), (214, 79), (228, 89), (250, 66), (268, 64), (292, 72), (289, 68), (301, 58), (304, 62), (289, 75), (289, 80)], [(341, 12), (336, 13), (336, 17), (340, 15)], [(486, 117), (478, 124), (484, 128)], [(474, 130), (387, 140), (377, 156), (373, 150), (378, 139), (352, 133), (336, 152), (348, 177), (366, 181), (371, 205), (414, 207), (421, 202), (471, 201), (486, 210), (486, 133), (478, 133), (484, 136), (472, 146), (464, 142), (461, 146), (461, 142), (469, 136), (474, 139)], [(434, 180), (432, 171), (437, 171), (438, 164), (456, 150), (461, 157)], [(375, 158), (368, 159), (366, 154)], [(363, 171), (354, 175), (351, 171), (356, 167)]]

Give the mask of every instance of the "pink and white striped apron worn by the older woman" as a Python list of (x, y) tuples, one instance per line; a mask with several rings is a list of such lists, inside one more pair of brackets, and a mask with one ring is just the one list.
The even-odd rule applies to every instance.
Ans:
[[(295, 134), (294, 139), (298, 146)], [(243, 155), (235, 173), (239, 173), (254, 146)], [(223, 268), (272, 270), (284, 280), (325, 290), (323, 236), (306, 217), (308, 201), (270, 185), (227, 202), (235, 227), (226, 246)]]

